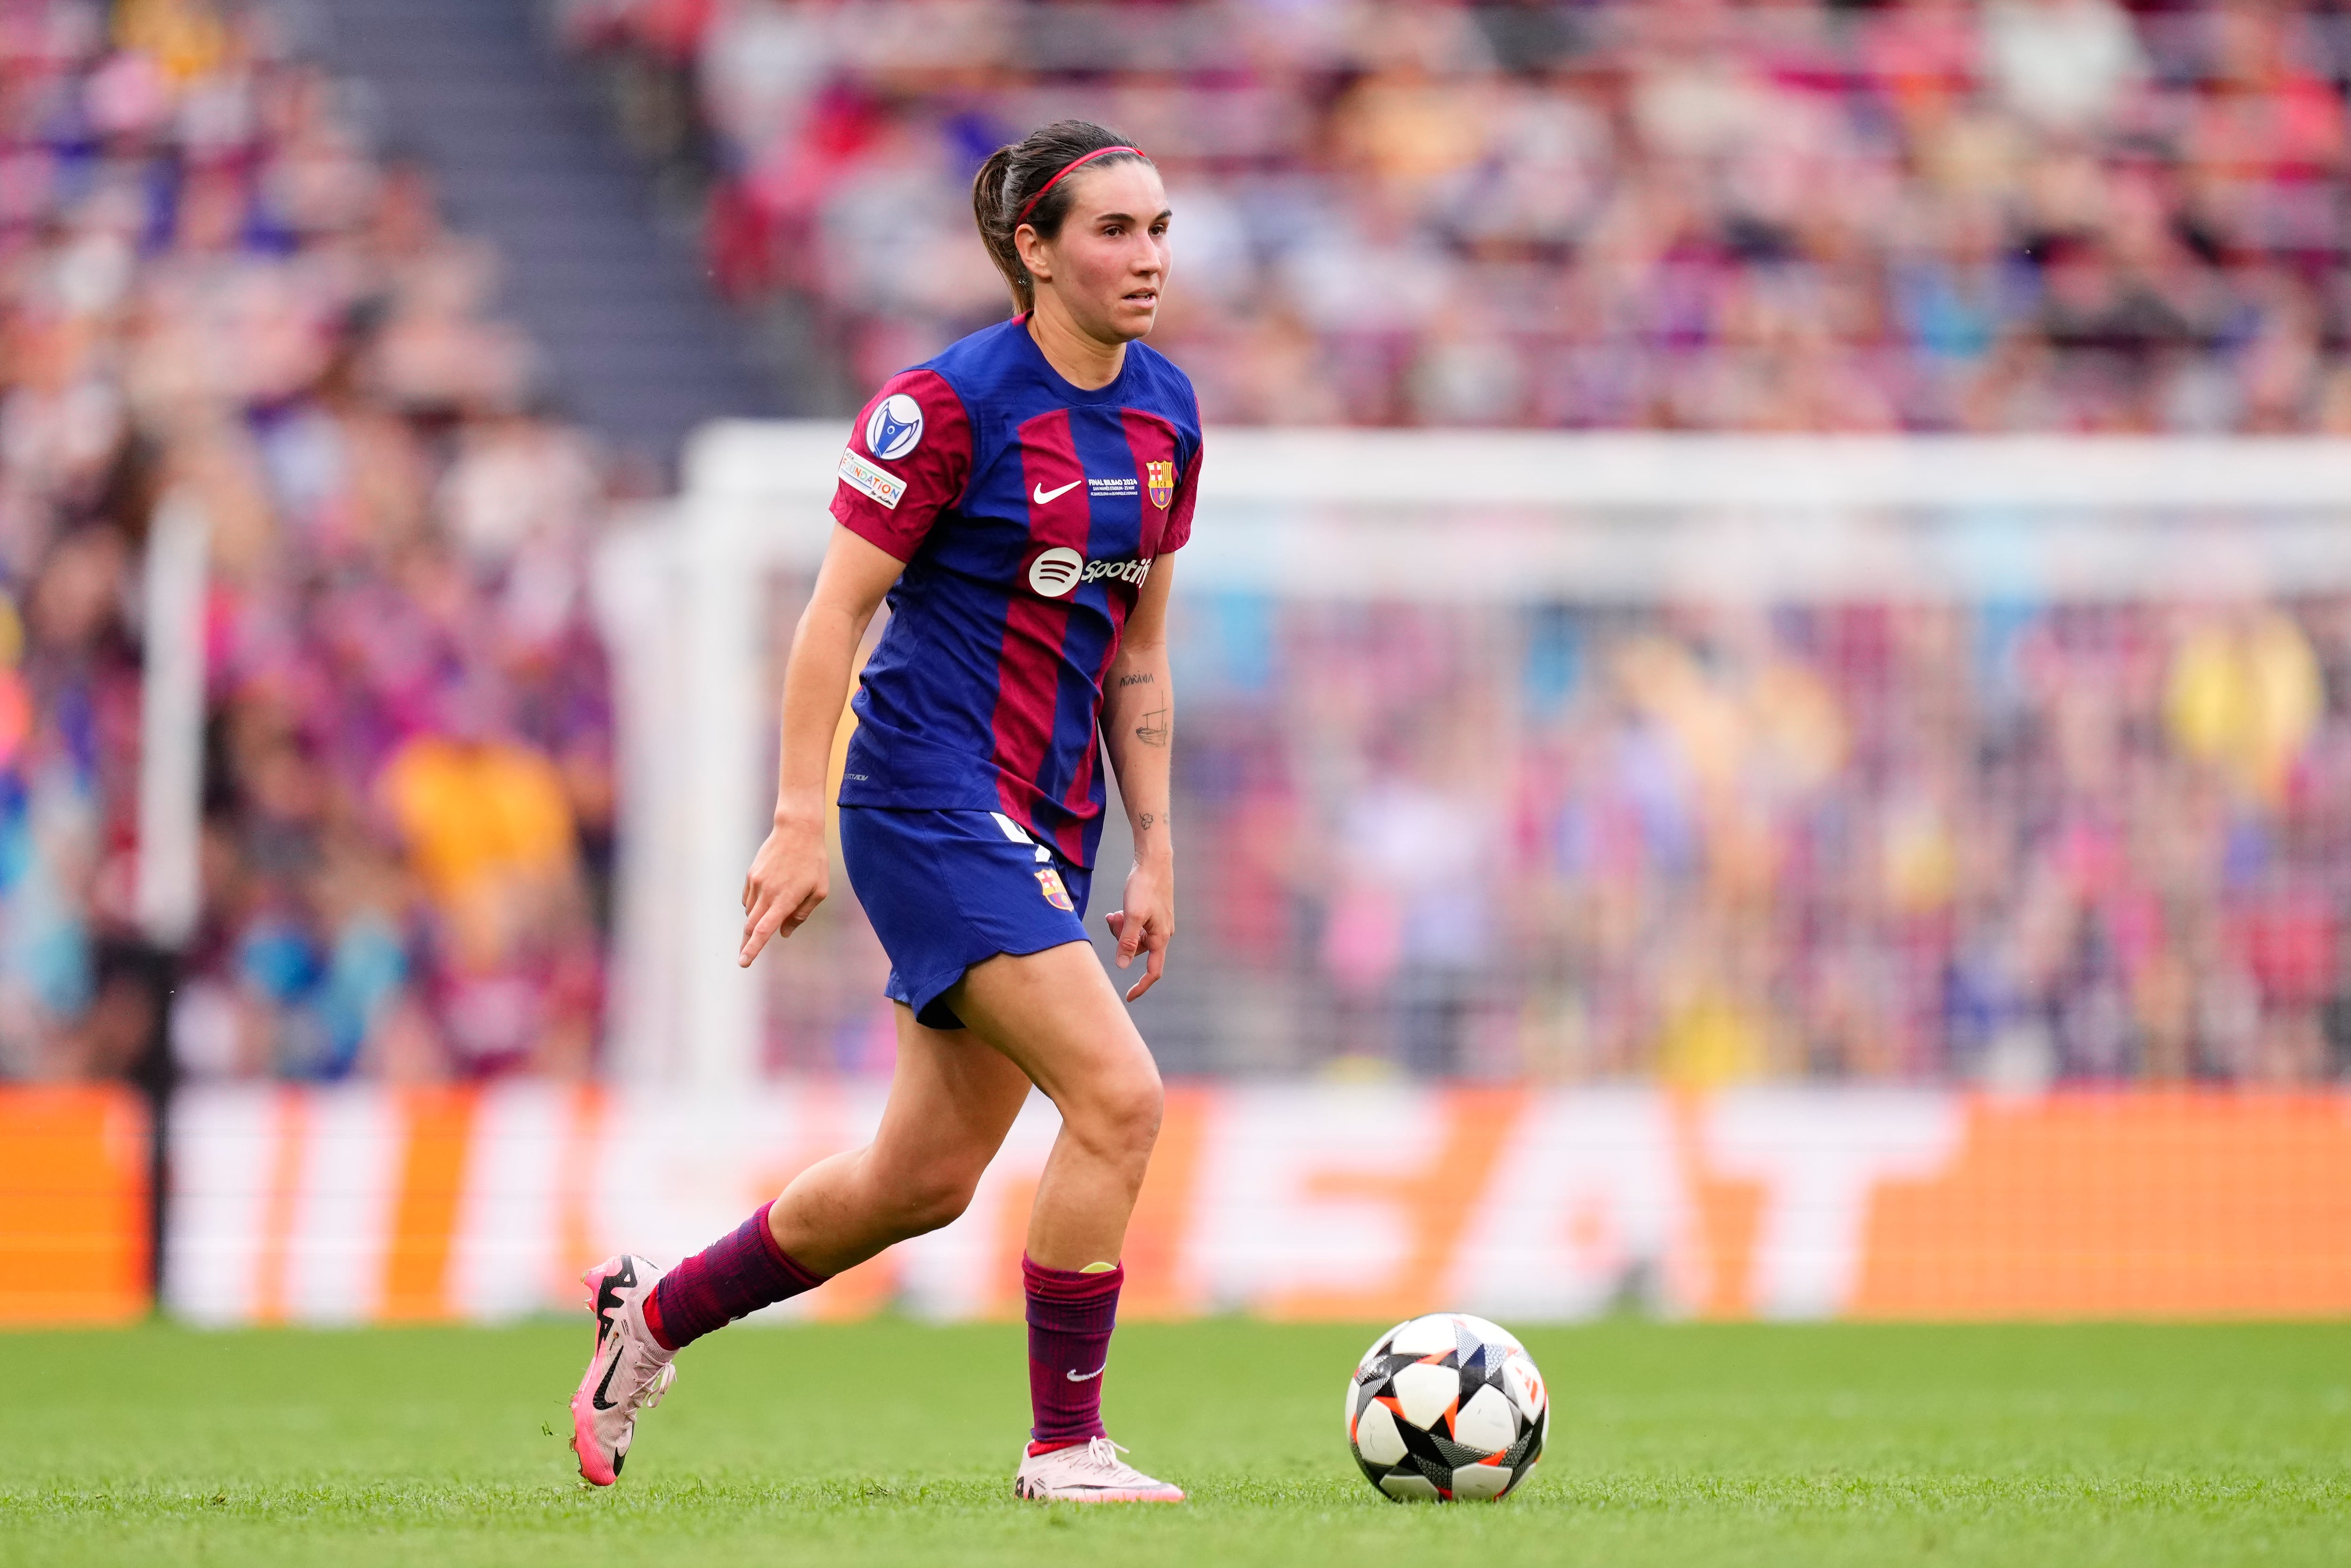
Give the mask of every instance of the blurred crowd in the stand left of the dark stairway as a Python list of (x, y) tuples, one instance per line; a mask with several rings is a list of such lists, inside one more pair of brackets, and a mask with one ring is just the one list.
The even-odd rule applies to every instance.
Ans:
[[(0, 1077), (162, 1039), (195, 1077), (590, 1067), (607, 477), (496, 282), (270, 9), (0, 0)], [(174, 505), (209, 531), (176, 971), (134, 903)]]

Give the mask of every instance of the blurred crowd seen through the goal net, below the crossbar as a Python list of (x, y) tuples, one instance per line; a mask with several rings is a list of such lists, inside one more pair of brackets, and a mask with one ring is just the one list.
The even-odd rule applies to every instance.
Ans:
[[(2351, 599), (1194, 590), (1171, 658), (1168, 1072), (2351, 1072)], [(884, 969), (820, 910), (771, 1060), (886, 1063)]]

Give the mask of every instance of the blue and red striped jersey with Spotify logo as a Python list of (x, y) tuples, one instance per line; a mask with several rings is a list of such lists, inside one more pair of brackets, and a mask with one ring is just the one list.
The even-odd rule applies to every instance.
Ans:
[(1192, 383), (1143, 343), (1091, 393), (1018, 317), (891, 376), (832, 494), (905, 562), (842, 804), (1002, 811), (1093, 865), (1103, 679), (1152, 562), (1192, 534), (1199, 449)]

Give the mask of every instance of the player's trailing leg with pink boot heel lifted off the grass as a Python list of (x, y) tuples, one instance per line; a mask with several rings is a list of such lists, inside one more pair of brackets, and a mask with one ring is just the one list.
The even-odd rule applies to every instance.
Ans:
[(870, 1145), (809, 1166), (675, 1269), (628, 1253), (590, 1269), (597, 1347), (571, 1396), (581, 1474), (618, 1479), (637, 1410), (661, 1401), (682, 1347), (959, 1215), (1027, 1091), (966, 1030), (929, 1030), (898, 1006), (898, 1067)]

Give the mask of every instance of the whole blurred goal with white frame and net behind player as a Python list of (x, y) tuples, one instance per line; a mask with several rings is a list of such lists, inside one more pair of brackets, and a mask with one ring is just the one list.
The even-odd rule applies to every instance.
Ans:
[[(832, 900), (734, 966), (835, 423), (600, 562), (609, 1060), (875, 1072)], [(2351, 1053), (2351, 449), (1215, 430), (1173, 557), (1161, 1067), (2311, 1081)], [(1117, 907), (1112, 806), (1091, 924)]]

